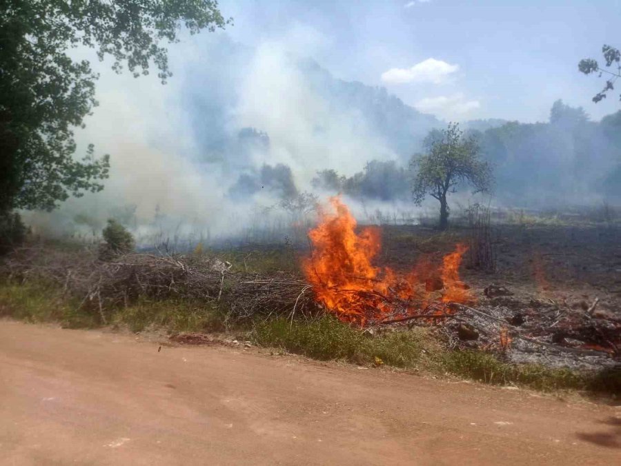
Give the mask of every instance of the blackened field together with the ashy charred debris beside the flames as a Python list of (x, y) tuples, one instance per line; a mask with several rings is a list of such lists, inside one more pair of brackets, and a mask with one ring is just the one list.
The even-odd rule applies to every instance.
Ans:
[[(384, 225), (382, 236), (379, 265), (409, 272), (425, 261), (439, 265), (456, 243), (469, 244), (470, 230), (455, 227), (439, 234), (421, 226)], [(472, 306), (485, 314), (462, 309), (445, 325), (453, 347), (498, 349), (500, 333), (509, 332), (513, 345), (506, 356), (513, 362), (619, 364), (620, 228), (495, 225), (493, 250), (494, 272), (475, 270), (464, 255), (460, 275), (476, 298)], [(486, 293), (490, 285), (504, 288)]]

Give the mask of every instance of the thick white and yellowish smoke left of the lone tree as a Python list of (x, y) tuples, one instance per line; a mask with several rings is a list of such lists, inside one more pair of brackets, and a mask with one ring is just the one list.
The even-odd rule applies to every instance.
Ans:
[[(30, 223), (66, 233), (75, 229), (78, 214), (103, 225), (115, 209), (135, 206), (133, 225), (141, 232), (149, 231), (148, 225), (152, 230), (157, 216), (177, 230), (193, 225), (215, 235), (235, 233), (253, 212), (278, 201), (268, 192), (243, 203), (232, 201), (228, 190), (240, 167), (258, 170), (284, 163), (304, 190), (317, 170), (353, 174), (366, 161), (395, 158), (363, 114), (332, 105), (299, 70), (297, 61), (304, 57), (298, 53), (317, 43), (316, 32), (295, 26), (281, 39), (246, 49), (249, 59), (237, 67), (231, 63), (239, 57), (221, 56), (218, 44), (230, 43), (223, 36), (207, 34), (172, 45), (175, 74), (166, 85), (155, 73), (137, 79), (127, 71), (115, 74), (110, 63), (99, 63), (90, 51), (77, 51), (101, 74), (99, 106), (86, 119), (86, 128), (76, 132), (77, 156), (88, 143), (95, 144), (97, 154), (109, 153), (110, 179), (103, 192), (70, 199), (52, 214), (37, 212)], [(204, 72), (210, 74), (205, 83)], [(247, 160), (233, 148), (221, 160), (206, 162), (194, 99), (225, 115), (219, 129), (223, 139), (242, 128), (256, 128), (268, 134), (268, 149), (252, 151)], [(210, 130), (206, 123), (204, 131)]]

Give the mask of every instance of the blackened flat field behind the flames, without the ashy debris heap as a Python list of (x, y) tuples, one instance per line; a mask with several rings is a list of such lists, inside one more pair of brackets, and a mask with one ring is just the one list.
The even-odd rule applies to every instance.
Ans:
[[(576, 308), (598, 297), (598, 310), (621, 313), (621, 228), (495, 225), (493, 230), (496, 271), (473, 270), (467, 252), (460, 270), (478, 298), (495, 283), (515, 298), (535, 296)], [(380, 265), (408, 272), (424, 259), (440, 263), (459, 242), (469, 243), (467, 228), (438, 234), (426, 227), (384, 225)]]

